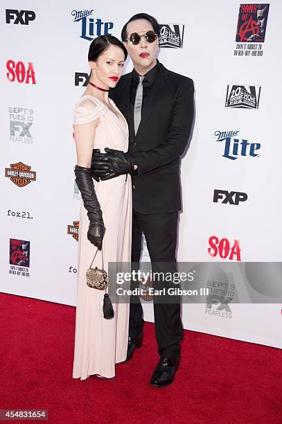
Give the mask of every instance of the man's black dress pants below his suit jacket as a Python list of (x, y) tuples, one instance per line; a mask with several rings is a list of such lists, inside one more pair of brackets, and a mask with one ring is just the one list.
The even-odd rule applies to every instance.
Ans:
[[(175, 249), (177, 244), (178, 212), (143, 215), (133, 209), (132, 213), (132, 269), (139, 268), (141, 256), (142, 232), (146, 238), (148, 252), (152, 263), (152, 272), (177, 272)], [(155, 264), (157, 263), (157, 264)], [(161, 264), (164, 263), (164, 264)], [(135, 265), (135, 266), (134, 266)], [(175, 287), (173, 283), (158, 281), (153, 283), (159, 290), (161, 286)], [(138, 283), (132, 282), (132, 288)], [(182, 339), (182, 321), (180, 319), (179, 297), (176, 303), (163, 303), (154, 297), (155, 334), (159, 355), (177, 359)], [(137, 337), (143, 328), (143, 309), (140, 299), (132, 296), (130, 303), (129, 334)]]

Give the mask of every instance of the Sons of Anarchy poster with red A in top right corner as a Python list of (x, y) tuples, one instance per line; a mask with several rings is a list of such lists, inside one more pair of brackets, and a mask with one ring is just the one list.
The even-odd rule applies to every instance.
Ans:
[(262, 56), (270, 3), (240, 4), (235, 56)]

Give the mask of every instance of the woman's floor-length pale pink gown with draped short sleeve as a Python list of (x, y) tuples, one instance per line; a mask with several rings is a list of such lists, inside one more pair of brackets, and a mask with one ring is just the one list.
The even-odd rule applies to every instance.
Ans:
[[(120, 118), (94, 96), (82, 96), (74, 114), (74, 125), (91, 123), (100, 118), (96, 128), (94, 148), (104, 152), (109, 147), (127, 152), (128, 127), (125, 118), (112, 100), (109, 100)], [(94, 186), (103, 211), (106, 227), (103, 239), (104, 269), (108, 262), (130, 263), (132, 225), (132, 186), (130, 175)], [(73, 361), (73, 378), (85, 380), (92, 374), (106, 378), (115, 375), (115, 364), (123, 362), (127, 353), (128, 303), (113, 303), (114, 318), (103, 317), (104, 291), (89, 288), (86, 270), (96, 252), (96, 247), (87, 239), (89, 219), (81, 204), (78, 239), (78, 300), (76, 306), (76, 341)], [(92, 267), (102, 267), (101, 252), (98, 251)], [(127, 271), (129, 271), (127, 269)]]

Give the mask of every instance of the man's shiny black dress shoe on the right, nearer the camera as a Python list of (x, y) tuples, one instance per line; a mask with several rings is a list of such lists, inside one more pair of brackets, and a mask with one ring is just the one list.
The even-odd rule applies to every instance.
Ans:
[(165, 387), (170, 385), (175, 378), (175, 371), (177, 370), (177, 367), (178, 360), (161, 356), (161, 359), (152, 374), (150, 385), (155, 387)]

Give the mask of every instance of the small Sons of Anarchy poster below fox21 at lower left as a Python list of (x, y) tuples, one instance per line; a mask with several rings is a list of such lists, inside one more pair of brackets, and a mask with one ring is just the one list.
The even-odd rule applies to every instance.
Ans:
[(9, 274), (29, 277), (30, 242), (10, 238), (10, 270)]

